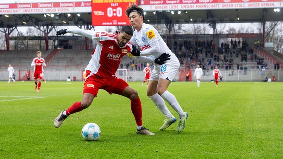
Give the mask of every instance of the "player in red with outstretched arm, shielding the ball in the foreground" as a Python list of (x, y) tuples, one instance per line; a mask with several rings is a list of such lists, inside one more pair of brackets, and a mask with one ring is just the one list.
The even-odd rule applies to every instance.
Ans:
[[(138, 92), (130, 88), (123, 79), (115, 75), (121, 58), (126, 54), (131, 54), (134, 49), (132, 44), (129, 43), (133, 35), (133, 28), (129, 25), (123, 26), (117, 34), (103, 31), (64, 29), (59, 30), (56, 35), (64, 35), (65, 33), (79, 34), (92, 38), (92, 40), (97, 41), (97, 45), (87, 65), (82, 101), (77, 101), (67, 110), (62, 111), (55, 119), (54, 126), (59, 128), (70, 114), (88, 108), (97, 96), (98, 90), (104, 89), (110, 94), (115, 93), (130, 99), (131, 110), (137, 124), (137, 134), (155, 135), (142, 125), (142, 107)], [(166, 61), (169, 59), (168, 57), (169, 55), (164, 54), (156, 59), (152, 57), (143, 59), (144, 61), (156, 61), (159, 63), (159, 61)]]

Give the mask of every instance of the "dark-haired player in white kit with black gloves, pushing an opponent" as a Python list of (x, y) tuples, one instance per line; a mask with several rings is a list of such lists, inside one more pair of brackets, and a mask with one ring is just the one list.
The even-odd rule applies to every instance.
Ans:
[(151, 77), (148, 83), (147, 96), (166, 118), (164, 124), (160, 127), (160, 130), (165, 130), (171, 124), (176, 122), (176, 118), (165, 105), (164, 100), (166, 100), (179, 115), (179, 124), (177, 129), (178, 132), (181, 132), (185, 127), (188, 113), (183, 111), (176, 97), (167, 90), (171, 81), (178, 72), (180, 62), (175, 54), (168, 48), (158, 31), (153, 26), (143, 23), (144, 12), (141, 7), (132, 3), (126, 9), (125, 13), (129, 17), (130, 24), (135, 29), (130, 42), (133, 45), (137, 44), (141, 49), (141, 51), (137, 50), (136, 52), (132, 52), (135, 57), (158, 57), (162, 53), (168, 53), (171, 55), (170, 60), (166, 61), (165, 64), (154, 65), (154, 69), (151, 72)]

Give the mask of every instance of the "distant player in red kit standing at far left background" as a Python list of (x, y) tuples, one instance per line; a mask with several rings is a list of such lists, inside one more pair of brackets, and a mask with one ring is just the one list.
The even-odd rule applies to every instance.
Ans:
[(41, 80), (42, 80), (42, 71), (43, 68), (46, 67), (45, 60), (41, 58), (41, 51), (36, 52), (37, 57), (34, 58), (31, 62), (31, 66), (33, 66), (34, 70), (34, 83), (35, 83), (35, 88), (37, 89), (37, 93), (39, 93), (40, 87), (41, 87)]

